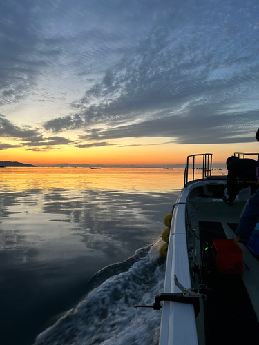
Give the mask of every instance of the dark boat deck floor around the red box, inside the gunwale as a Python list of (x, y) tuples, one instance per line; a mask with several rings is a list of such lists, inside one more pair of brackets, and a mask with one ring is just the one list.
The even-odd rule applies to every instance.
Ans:
[[(205, 188), (206, 189), (206, 188)], [(222, 191), (217, 195), (196, 188), (190, 193), (187, 208), (189, 221), (195, 232), (189, 235), (188, 246), (196, 249), (197, 257), (189, 257), (190, 264), (200, 262), (204, 255), (204, 242), (209, 246), (203, 257), (200, 283), (209, 289), (200, 317), (196, 320), (199, 344), (253, 344), (259, 339), (259, 257), (244, 244), (243, 275), (220, 275), (215, 270), (212, 239), (233, 239), (245, 201), (235, 201), (233, 206), (222, 202)], [(214, 196), (215, 195), (215, 196)], [(242, 197), (240, 197), (242, 199)], [(243, 198), (245, 199), (245, 197)], [(195, 235), (194, 235), (195, 234)], [(202, 248), (202, 250), (201, 250)], [(202, 254), (203, 252), (203, 254)], [(198, 286), (198, 276), (193, 275), (193, 286)], [(205, 325), (202, 320), (205, 320)], [(201, 331), (202, 328), (206, 331)]]

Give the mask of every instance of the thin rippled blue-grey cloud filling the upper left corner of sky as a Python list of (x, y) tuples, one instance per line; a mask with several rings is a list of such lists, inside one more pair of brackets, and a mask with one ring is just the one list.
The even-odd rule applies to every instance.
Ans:
[(60, 77), (94, 80), (128, 50), (143, 13), (117, 0), (1, 1), (0, 106), (48, 97)]

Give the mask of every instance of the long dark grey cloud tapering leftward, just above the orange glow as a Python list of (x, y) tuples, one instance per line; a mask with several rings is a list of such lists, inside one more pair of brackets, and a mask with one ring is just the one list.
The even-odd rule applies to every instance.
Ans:
[[(258, 127), (259, 110), (224, 112), (209, 115), (207, 106), (191, 106), (180, 115), (151, 119), (140, 124), (119, 126), (111, 130), (89, 133), (88, 140), (111, 140), (137, 137), (170, 137), (178, 144), (221, 144), (254, 141), (255, 128)], [(239, 122), (237, 122), (239, 119)], [(246, 124), (253, 123), (253, 130)]]

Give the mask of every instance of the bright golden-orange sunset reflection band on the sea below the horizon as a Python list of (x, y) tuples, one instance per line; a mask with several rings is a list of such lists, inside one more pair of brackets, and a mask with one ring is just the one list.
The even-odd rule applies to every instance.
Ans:
[(160, 190), (180, 189), (184, 169), (162, 168), (3, 168), (4, 192), (31, 189)]

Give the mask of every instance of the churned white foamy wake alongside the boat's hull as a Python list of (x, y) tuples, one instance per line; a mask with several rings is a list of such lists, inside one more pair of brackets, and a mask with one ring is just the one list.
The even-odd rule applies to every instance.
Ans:
[(77, 308), (46, 331), (35, 345), (156, 345), (161, 311), (135, 309), (152, 305), (164, 287), (165, 262), (160, 258), (161, 240), (126, 272), (95, 288)]

